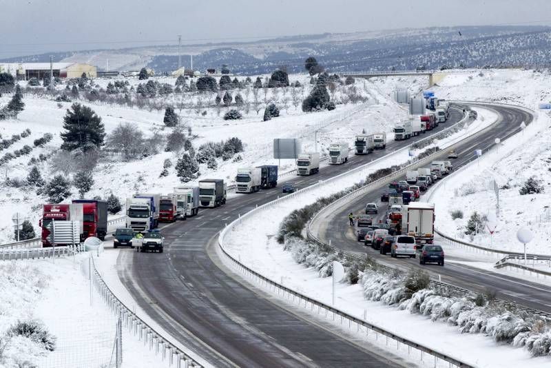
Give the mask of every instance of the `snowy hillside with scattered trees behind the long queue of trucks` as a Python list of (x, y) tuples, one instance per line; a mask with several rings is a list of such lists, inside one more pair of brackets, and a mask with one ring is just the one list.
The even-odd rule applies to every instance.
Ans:
[[(309, 77), (305, 74), (292, 74), (289, 76), (291, 81), (300, 81), (304, 88), (299, 89), (302, 97), (309, 93), (311, 85)], [(129, 79), (130, 85), (136, 85), (137, 79)], [(105, 88), (107, 83), (113, 80), (96, 79), (100, 87)], [(160, 83), (172, 83), (174, 79), (158, 78)], [(229, 184), (233, 182), (233, 178), (238, 167), (257, 166), (263, 164), (275, 164), (278, 160), (273, 159), (271, 143), (274, 138), (301, 138), (302, 150), (308, 152), (315, 147), (315, 136), (318, 139), (318, 150), (326, 154), (329, 144), (334, 141), (347, 141), (353, 147), (353, 139), (355, 134), (360, 134), (362, 131), (368, 134), (375, 132), (390, 133), (393, 125), (399, 119), (404, 119), (406, 116), (405, 110), (399, 107), (392, 99), (393, 89), (397, 83), (404, 85), (412, 85), (415, 89), (420, 89), (420, 85), (424, 81), (415, 81), (407, 78), (390, 78), (389, 83), (378, 83), (375, 87), (370, 81), (358, 80), (353, 88), (357, 94), (367, 99), (367, 102), (358, 103), (342, 103), (337, 105), (333, 111), (321, 111), (315, 113), (304, 113), (300, 110), (300, 106), (295, 108), (293, 105), (287, 108), (280, 108), (280, 116), (273, 118), (270, 121), (262, 121), (263, 106), (266, 103), (279, 101), (283, 103), (285, 99), (289, 99), (291, 92), (287, 91), (284, 96), (283, 90), (261, 89), (262, 103), (260, 114), (251, 109), (248, 113), (243, 112), (243, 118), (237, 121), (225, 121), (224, 113), (228, 108), (214, 107), (214, 96), (216, 94), (198, 94), (197, 92), (186, 92), (185, 94), (172, 94), (169, 96), (161, 96), (156, 99), (155, 103), (174, 103), (174, 105), (183, 104), (187, 106), (183, 109), (176, 109), (180, 114), (180, 121), (191, 129), (192, 144), (194, 149), (207, 142), (220, 142), (227, 140), (233, 136), (240, 138), (245, 144), (245, 152), (240, 152), (234, 159), (223, 161), (217, 159), (218, 167), (216, 170), (209, 169), (207, 164), (200, 165), (200, 177), (216, 177), (224, 178)], [(402, 81), (402, 82), (397, 82)], [(21, 83), (24, 88), (24, 82)], [(60, 89), (65, 88), (65, 85), (59, 85)], [(346, 94), (351, 86), (342, 86), (337, 88), (335, 99), (338, 101), (340, 96)], [(250, 90), (250, 88), (249, 88)], [(251, 96), (247, 97), (247, 88), (241, 90), (231, 90), (232, 94), (240, 93), (246, 99), (248, 98), (253, 103), (252, 92)], [(250, 92), (250, 91), (249, 91)], [(266, 95), (264, 95), (266, 93)], [(0, 97), (0, 105), (6, 105), (10, 100), (10, 96)], [(153, 99), (154, 100), (154, 99)], [(194, 108), (194, 103), (202, 101), (202, 108)], [(39, 159), (43, 156), (45, 161), (39, 161), (37, 166), (41, 171), (43, 178), (46, 181), (50, 180), (58, 171), (51, 165), (53, 152), (61, 145), (60, 132), (63, 131), (63, 116), (67, 108), (70, 108), (72, 103), (57, 102), (46, 97), (33, 95), (31, 92), (25, 94), (23, 98), (25, 110), (19, 114), (17, 119), (9, 119), (0, 123), (1, 139), (9, 139), (14, 134), (21, 134), (23, 130), (30, 129), (30, 136), (23, 137), (15, 142), (10, 147), (1, 150), (1, 155), (12, 153), (14, 150), (21, 150), (23, 146), (29, 145), (32, 147), (30, 154), (18, 156), (2, 165), (0, 188), (3, 195), (0, 198), (0, 205), (5, 209), (0, 214), (0, 244), (13, 241), (12, 227), (10, 219), (14, 212), (21, 212), (30, 218), (33, 225), (38, 223), (39, 214), (41, 212), (41, 204), (45, 203), (46, 199), (43, 196), (36, 194), (34, 187), (23, 185), (17, 187), (8, 185), (6, 181), (10, 178), (12, 181), (22, 181), (30, 170), (30, 160)], [(167, 134), (172, 131), (172, 128), (165, 127), (163, 124), (164, 110), (152, 108), (138, 108), (136, 105), (126, 106), (108, 103), (90, 103), (87, 101), (78, 100), (77, 102), (89, 106), (101, 117), (105, 124), (105, 132), (110, 134), (121, 123), (135, 124), (144, 134), (144, 137), (150, 138), (154, 134), (162, 137), (161, 141), (165, 140)], [(153, 102), (152, 102), (153, 103)], [(234, 108), (233, 106), (231, 108)], [(221, 110), (221, 112), (219, 111)], [(320, 122), (333, 122), (326, 126), (323, 130), (315, 134), (313, 127)], [(306, 132), (306, 134), (304, 134)], [(44, 134), (52, 134), (52, 141), (43, 146), (34, 147), (33, 141), (41, 138)], [(161, 192), (168, 193), (172, 191), (181, 182), (176, 176), (174, 165), (180, 158), (180, 154), (174, 152), (165, 152), (164, 143), (158, 148), (158, 154), (143, 157), (139, 160), (124, 162), (117, 156), (108, 154), (100, 160), (97, 167), (94, 169), (95, 183), (88, 197), (101, 196), (106, 198), (111, 193), (121, 199), (124, 205), (124, 198), (134, 192)], [(238, 159), (240, 157), (240, 159)], [(165, 160), (171, 161), (171, 167), (168, 168), (167, 176), (160, 176), (163, 171)], [(72, 170), (69, 165), (67, 172), (63, 175), (67, 178), (72, 178)], [(293, 160), (282, 160), (280, 172), (285, 172), (292, 169), (294, 166)], [(109, 183), (109, 185), (105, 185)], [(194, 184), (190, 182), (189, 184)], [(72, 188), (73, 196), (76, 196), (76, 190)], [(35, 225), (36, 230), (36, 225)]]

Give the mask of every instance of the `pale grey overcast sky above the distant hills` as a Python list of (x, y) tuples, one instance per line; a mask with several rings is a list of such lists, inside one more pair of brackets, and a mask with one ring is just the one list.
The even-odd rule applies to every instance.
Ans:
[(177, 34), (219, 42), (441, 25), (551, 25), (550, 9), (549, 0), (0, 0), (0, 59), (176, 43)]

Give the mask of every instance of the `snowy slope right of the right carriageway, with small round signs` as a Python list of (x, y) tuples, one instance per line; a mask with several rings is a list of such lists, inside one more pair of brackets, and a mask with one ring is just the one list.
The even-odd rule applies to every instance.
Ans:
[[(516, 234), (520, 227), (528, 226), (534, 233), (534, 240), (528, 243), (527, 252), (551, 254), (551, 183), (548, 180), (551, 150), (545, 134), (549, 123), (548, 114), (537, 112), (537, 119), (523, 132), (431, 190), (430, 201), (435, 202), (437, 229), (448, 236), (484, 247), (523, 252)], [(543, 193), (520, 195), (519, 191), (531, 177), (541, 185)], [(494, 182), (499, 187), (499, 209)], [(462, 218), (454, 219), (453, 211), (461, 211)], [(484, 221), (476, 235), (466, 234), (466, 225), (475, 212), (485, 218), (497, 215), (493, 241)]]

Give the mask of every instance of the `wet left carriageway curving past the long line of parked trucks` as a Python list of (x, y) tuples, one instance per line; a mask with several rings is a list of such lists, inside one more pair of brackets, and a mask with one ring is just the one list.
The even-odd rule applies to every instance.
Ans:
[[(449, 122), (431, 133), (461, 119), (458, 111), (450, 111)], [(386, 150), (322, 167), (313, 176), (289, 176), (289, 181), (306, 187), (422, 138), (389, 142)], [(121, 251), (119, 277), (149, 316), (217, 367), (407, 365), (285, 310), (278, 300), (269, 300), (264, 293), (245, 286), (239, 276), (220, 264), (214, 248), (218, 232), (238, 214), (282, 195), (280, 190), (242, 194), (222, 207), (201, 209), (194, 218), (163, 227), (165, 252)]]

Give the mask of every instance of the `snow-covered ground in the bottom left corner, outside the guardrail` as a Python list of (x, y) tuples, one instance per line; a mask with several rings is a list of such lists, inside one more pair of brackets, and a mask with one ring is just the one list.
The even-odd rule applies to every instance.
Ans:
[[(107, 367), (116, 337), (116, 316), (81, 272), (87, 254), (72, 258), (0, 264), (0, 367)], [(67, 292), (70, 290), (70, 292)], [(19, 322), (47, 331), (28, 337), (9, 333)], [(123, 368), (161, 367), (154, 351), (123, 329)], [(50, 344), (50, 341), (53, 344)], [(52, 348), (53, 347), (53, 350)], [(23, 365), (23, 362), (30, 365)]]

